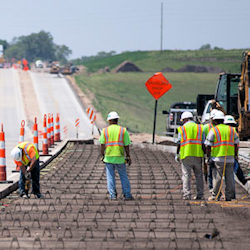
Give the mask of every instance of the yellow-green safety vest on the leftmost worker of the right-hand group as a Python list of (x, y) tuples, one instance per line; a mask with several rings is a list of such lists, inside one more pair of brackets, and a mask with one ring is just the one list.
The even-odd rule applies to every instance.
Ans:
[(202, 150), (202, 130), (202, 126), (195, 122), (189, 122), (178, 128), (178, 132), (181, 134), (181, 159), (185, 159), (187, 156), (204, 156)]

